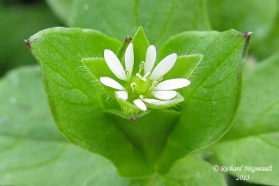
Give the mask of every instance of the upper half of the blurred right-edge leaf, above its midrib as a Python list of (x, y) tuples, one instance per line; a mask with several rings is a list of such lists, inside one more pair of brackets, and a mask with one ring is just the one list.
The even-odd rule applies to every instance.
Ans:
[(234, 125), (224, 139), (278, 131), (279, 54), (243, 75), (241, 104)]

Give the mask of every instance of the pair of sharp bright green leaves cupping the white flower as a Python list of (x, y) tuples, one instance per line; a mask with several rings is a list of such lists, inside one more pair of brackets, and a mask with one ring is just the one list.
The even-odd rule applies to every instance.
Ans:
[[(40, 63), (56, 125), (70, 141), (107, 157), (121, 176), (139, 178), (150, 176), (154, 172), (163, 175), (173, 162), (194, 150), (209, 146), (231, 125), (239, 104), (239, 61), (243, 59), (247, 38), (242, 33), (230, 30), (223, 33), (186, 32), (167, 40), (158, 50), (156, 58), (163, 63), (166, 56), (176, 58), (177, 54), (177, 59), (173, 67), (169, 67), (169, 72), (164, 72), (164, 79), (189, 79), (191, 85), (181, 88), (173, 99), (158, 101), (171, 102), (180, 97), (184, 101), (176, 111), (144, 111), (144, 114), (137, 117), (137, 121), (124, 116), (119, 104), (127, 109), (135, 107), (142, 111), (133, 101), (144, 99), (140, 98), (140, 95), (144, 95), (141, 93), (140, 83), (144, 84), (145, 79), (146, 82), (151, 79), (148, 85), (150, 87), (157, 80), (156, 73), (154, 77), (151, 75), (158, 66), (152, 71), (153, 65), (146, 62), (146, 51), (153, 47), (149, 48), (149, 41), (142, 28), (131, 42), (133, 68), (132, 63), (127, 63), (125, 67), (131, 72), (124, 74), (124, 69), (121, 72), (123, 79), (128, 79), (131, 75), (131, 82), (128, 83), (122, 77), (116, 77), (116, 73), (106, 63), (110, 61), (105, 61), (104, 58), (107, 57), (103, 56), (104, 51), (107, 51), (105, 49), (110, 49), (115, 52), (117, 58), (114, 59), (118, 64), (120, 61), (124, 63), (125, 54), (122, 52), (126, 50), (128, 43), (121, 45), (119, 40), (98, 31), (47, 29), (32, 36), (27, 40), (27, 45)], [(82, 58), (82, 54), (101, 57)], [(130, 54), (126, 54), (126, 62), (128, 59), (132, 61)], [(153, 61), (156, 58), (153, 55)], [(145, 63), (141, 63), (142, 61)], [(143, 64), (144, 69), (140, 70)], [(123, 64), (120, 65), (121, 68), (122, 66)], [(132, 70), (134, 74), (140, 71), (139, 75), (133, 75)], [(148, 72), (149, 76), (146, 75)], [(117, 82), (128, 90), (127, 100), (123, 96), (116, 97), (114, 88), (100, 84), (101, 77), (119, 79)], [(137, 79), (135, 98), (132, 98), (133, 91), (130, 87), (133, 79)], [(161, 88), (163, 83), (160, 83)], [(155, 90), (158, 86), (153, 87), (150, 97), (146, 98), (155, 99), (153, 92), (158, 91)], [(136, 87), (140, 89), (135, 89)], [(103, 89), (115, 100), (105, 100)], [(169, 91), (169, 84), (167, 89)], [(150, 110), (165, 109), (161, 105), (144, 104)]]

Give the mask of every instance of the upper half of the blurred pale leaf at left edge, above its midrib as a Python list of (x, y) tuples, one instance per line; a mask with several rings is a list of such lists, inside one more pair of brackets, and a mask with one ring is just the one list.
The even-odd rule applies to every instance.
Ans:
[(19, 68), (0, 79), (1, 137), (16, 136), (18, 143), (28, 138), (66, 141), (50, 115), (41, 76), (36, 66)]

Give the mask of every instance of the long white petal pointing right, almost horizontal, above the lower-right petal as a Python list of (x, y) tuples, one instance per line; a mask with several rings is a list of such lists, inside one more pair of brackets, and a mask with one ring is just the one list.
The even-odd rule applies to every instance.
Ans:
[(158, 86), (156, 86), (154, 90), (161, 90), (161, 91), (175, 90), (175, 89), (188, 86), (189, 84), (190, 81), (184, 78), (168, 79), (158, 84)]

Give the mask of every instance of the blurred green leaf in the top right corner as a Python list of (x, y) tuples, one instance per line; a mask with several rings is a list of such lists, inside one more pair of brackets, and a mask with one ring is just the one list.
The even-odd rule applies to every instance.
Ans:
[[(234, 0), (210, 0), (207, 1), (207, 4), (213, 29), (225, 31), (233, 28), (243, 32), (252, 31), (253, 39), (250, 43), (250, 51), (260, 59), (268, 57), (271, 54), (270, 51), (278, 52), (278, 48), (277, 51), (273, 48), (278, 43), (274, 40), (278, 36), (278, 29), (277, 32), (271, 33), (279, 10), (277, 0), (237, 2)], [(269, 42), (267, 42), (267, 38), (271, 38)], [(273, 43), (272, 47), (271, 43)]]

